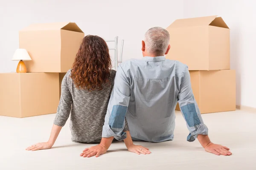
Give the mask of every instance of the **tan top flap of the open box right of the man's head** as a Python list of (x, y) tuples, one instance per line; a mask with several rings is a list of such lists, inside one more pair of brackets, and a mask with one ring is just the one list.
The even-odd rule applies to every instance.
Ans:
[(175, 20), (168, 28), (180, 28), (180, 27), (190, 27), (190, 26), (209, 26), (210, 23), (217, 17), (197, 17), (197, 18), (186, 18)]

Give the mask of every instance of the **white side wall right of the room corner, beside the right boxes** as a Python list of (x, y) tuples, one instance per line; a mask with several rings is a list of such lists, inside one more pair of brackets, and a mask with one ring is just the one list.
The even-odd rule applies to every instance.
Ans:
[(256, 108), (255, 7), (255, 0), (184, 0), (184, 18), (219, 15), (229, 26), (230, 64), (236, 70), (236, 105), (253, 108)]

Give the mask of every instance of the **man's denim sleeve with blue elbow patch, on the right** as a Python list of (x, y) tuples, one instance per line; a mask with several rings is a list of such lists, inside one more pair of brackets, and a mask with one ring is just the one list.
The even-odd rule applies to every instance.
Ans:
[(186, 125), (190, 131), (187, 141), (195, 141), (199, 134), (208, 135), (208, 128), (204, 125), (201, 113), (193, 95), (188, 68), (186, 68), (184, 76), (181, 79), (178, 102), (180, 111), (186, 120)]

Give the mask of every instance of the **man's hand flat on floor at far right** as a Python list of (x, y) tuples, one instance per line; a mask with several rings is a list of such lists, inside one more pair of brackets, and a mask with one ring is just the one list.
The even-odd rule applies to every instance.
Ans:
[(212, 142), (210, 142), (206, 147), (204, 147), (204, 150), (209, 153), (214, 153), (215, 155), (232, 155), (228, 147), (221, 146), (220, 144), (213, 144)]

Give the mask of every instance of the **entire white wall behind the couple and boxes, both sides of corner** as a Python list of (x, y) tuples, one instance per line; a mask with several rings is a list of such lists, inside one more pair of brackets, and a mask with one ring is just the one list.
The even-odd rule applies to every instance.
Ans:
[(254, 0), (6, 0), (0, 5), (0, 72), (15, 71), (17, 62), (11, 59), (19, 48), (18, 31), (31, 23), (72, 21), (85, 34), (119, 36), (125, 40), (123, 60), (127, 60), (142, 57), (140, 44), (148, 28), (218, 14), (231, 28), (236, 104), (256, 108), (255, 6)]

